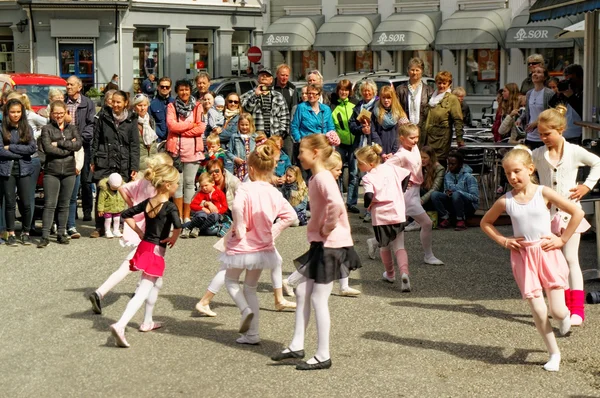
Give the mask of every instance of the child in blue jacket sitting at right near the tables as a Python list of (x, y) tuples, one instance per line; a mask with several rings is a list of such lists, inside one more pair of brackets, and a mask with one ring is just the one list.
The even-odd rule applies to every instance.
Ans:
[(432, 192), (431, 202), (438, 212), (438, 228), (450, 228), (450, 215), (456, 217), (455, 231), (467, 229), (466, 218), (479, 207), (479, 186), (472, 169), (463, 165), (459, 151), (448, 155), (448, 172), (444, 175), (444, 192)]

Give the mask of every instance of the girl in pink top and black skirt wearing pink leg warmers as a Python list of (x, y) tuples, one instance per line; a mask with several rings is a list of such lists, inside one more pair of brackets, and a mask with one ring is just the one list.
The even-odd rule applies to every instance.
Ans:
[(383, 279), (393, 283), (396, 279), (394, 259), (400, 270), (402, 284), (400, 291), (410, 292), (408, 277), (408, 254), (404, 248), (405, 205), (403, 183), (410, 172), (402, 167), (381, 164), (382, 149), (374, 144), (356, 151), (358, 169), (366, 173), (363, 176), (365, 189), (365, 207), (371, 211), (375, 239), (379, 243), (379, 254), (385, 267)]

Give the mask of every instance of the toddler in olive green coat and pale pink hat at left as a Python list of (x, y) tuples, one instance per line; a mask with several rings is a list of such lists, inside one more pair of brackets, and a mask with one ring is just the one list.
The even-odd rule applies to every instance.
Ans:
[[(125, 200), (119, 194), (119, 187), (123, 185), (123, 177), (119, 173), (112, 173), (107, 178), (100, 180), (98, 188), (98, 216), (104, 217), (104, 230), (106, 238), (121, 237), (119, 226), (121, 223), (121, 212), (125, 210)], [(113, 230), (110, 230), (110, 222), (113, 222)]]

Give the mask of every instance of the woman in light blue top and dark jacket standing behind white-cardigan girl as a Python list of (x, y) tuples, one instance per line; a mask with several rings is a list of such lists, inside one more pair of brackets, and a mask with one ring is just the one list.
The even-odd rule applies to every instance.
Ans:
[(525, 145), (530, 149), (544, 146), (537, 129), (537, 118), (548, 108), (556, 105), (557, 96), (552, 89), (545, 86), (548, 78), (548, 70), (545, 66), (537, 65), (531, 73), (533, 88), (525, 96), (525, 112), (516, 121), (518, 127), (523, 126), (527, 136)]

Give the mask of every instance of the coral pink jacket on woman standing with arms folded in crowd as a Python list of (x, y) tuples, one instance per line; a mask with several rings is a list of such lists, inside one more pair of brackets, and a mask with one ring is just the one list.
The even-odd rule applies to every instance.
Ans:
[[(198, 126), (194, 126), (198, 123)], [(175, 111), (175, 103), (167, 106), (167, 152), (177, 156), (180, 154), (182, 162), (198, 162), (204, 159), (204, 144), (202, 135), (206, 129), (204, 110), (200, 102), (187, 119), (182, 119)], [(179, 138), (181, 137), (181, 152)]]

